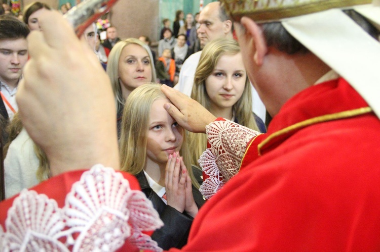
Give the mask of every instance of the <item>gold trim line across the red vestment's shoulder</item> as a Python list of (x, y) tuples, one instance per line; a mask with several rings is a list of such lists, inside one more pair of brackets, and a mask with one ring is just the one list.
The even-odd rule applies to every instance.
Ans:
[(372, 112), (372, 109), (370, 107), (364, 107), (364, 108), (355, 109), (355, 110), (343, 111), (343, 112), (339, 112), (339, 113), (335, 113), (335, 114), (318, 116), (318, 117), (314, 117), (314, 118), (311, 118), (311, 119), (308, 119), (308, 120), (305, 120), (305, 121), (302, 121), (302, 122), (290, 125), (290, 126), (288, 126), (286, 128), (283, 128), (283, 129), (281, 129), (279, 131), (276, 131), (276, 132), (272, 133), (270, 136), (268, 136), (267, 139), (265, 139), (261, 143), (259, 143), (257, 145), (258, 155), (261, 156), (261, 148), (265, 144), (267, 144), (268, 142), (270, 142), (272, 139), (274, 139), (274, 138), (276, 138), (276, 137), (278, 137), (280, 135), (286, 134), (286, 133), (288, 133), (290, 131), (293, 131), (293, 130), (296, 130), (296, 129), (299, 129), (299, 128), (303, 128), (303, 127), (306, 127), (306, 126), (309, 126), (309, 125), (312, 125), (312, 124), (316, 124), (316, 123), (321, 123), (321, 122), (327, 122), (327, 121), (332, 121), (332, 120), (337, 120), (337, 119), (344, 119), (344, 118), (359, 116), (359, 115), (363, 115), (363, 114), (366, 114), (366, 113), (369, 113), (369, 112)]

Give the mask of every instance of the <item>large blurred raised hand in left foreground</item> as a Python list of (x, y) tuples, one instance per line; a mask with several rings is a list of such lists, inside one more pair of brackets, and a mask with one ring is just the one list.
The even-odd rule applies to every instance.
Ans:
[(110, 81), (62, 15), (43, 11), (42, 31), (28, 36), (30, 60), (16, 96), (22, 123), (53, 175), (97, 163), (119, 169)]

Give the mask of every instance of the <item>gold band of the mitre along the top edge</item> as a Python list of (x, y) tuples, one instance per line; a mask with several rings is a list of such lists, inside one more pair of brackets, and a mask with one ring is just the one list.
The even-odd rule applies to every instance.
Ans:
[(269, 0), (221, 0), (227, 13), (235, 21), (240, 21), (243, 16), (250, 17), (258, 23), (278, 21), (333, 8), (347, 8), (355, 5), (372, 3), (372, 0), (319, 0), (319, 1), (294, 1), (292, 5), (284, 5), (283, 1), (273, 2)]

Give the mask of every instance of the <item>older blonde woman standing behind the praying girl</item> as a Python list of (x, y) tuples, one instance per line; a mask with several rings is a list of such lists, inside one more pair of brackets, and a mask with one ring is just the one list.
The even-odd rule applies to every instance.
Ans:
[(125, 100), (138, 86), (156, 82), (156, 69), (149, 47), (137, 38), (121, 40), (108, 56), (107, 74), (111, 80), (117, 109), (118, 136)]

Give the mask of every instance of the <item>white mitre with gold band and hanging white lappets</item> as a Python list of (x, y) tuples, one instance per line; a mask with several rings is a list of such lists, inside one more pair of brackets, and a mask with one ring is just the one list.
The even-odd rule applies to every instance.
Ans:
[(281, 22), (345, 78), (380, 117), (380, 43), (342, 10), (354, 9), (380, 29), (380, 0), (221, 0), (239, 21)]

